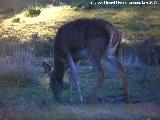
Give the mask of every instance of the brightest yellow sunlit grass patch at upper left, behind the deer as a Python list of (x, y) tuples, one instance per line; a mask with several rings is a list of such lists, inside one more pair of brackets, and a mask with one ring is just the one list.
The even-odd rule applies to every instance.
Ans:
[[(26, 11), (28, 10), (15, 15), (14, 18), (4, 20), (2, 23), (3, 32), (5, 30), (8, 32), (8, 36), (12, 35), (25, 39), (29, 39), (33, 32), (38, 32), (43, 37), (53, 36), (57, 26), (66, 21), (65, 17), (74, 15), (72, 13), (74, 11), (67, 6), (49, 6), (42, 9), (41, 14), (37, 17), (26, 16)], [(15, 18), (20, 18), (18, 23), (13, 22)]]

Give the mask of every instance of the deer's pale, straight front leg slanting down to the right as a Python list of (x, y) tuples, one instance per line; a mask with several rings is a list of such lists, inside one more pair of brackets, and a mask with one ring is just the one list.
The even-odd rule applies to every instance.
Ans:
[[(76, 91), (77, 91), (77, 94), (78, 94), (78, 100), (81, 103), (81, 102), (83, 102), (83, 98), (82, 98), (82, 95), (81, 95), (80, 86), (79, 86), (79, 82), (78, 82), (78, 79), (77, 79), (76, 65), (73, 61), (73, 58), (72, 58), (71, 54), (68, 51), (67, 51), (67, 63), (68, 63), (69, 68), (70, 68), (70, 80), (72, 79), (75, 82)], [(71, 84), (72, 84), (72, 82), (71, 82)], [(72, 87), (72, 86), (70, 86), (70, 87)]]

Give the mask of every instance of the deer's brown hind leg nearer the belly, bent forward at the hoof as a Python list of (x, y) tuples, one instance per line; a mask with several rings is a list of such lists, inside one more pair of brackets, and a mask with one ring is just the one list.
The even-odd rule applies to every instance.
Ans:
[(104, 75), (104, 69), (103, 69), (103, 67), (100, 63), (100, 57), (92, 56), (91, 53), (88, 53), (88, 58), (89, 58), (93, 68), (96, 70), (96, 73), (97, 73), (96, 85), (93, 88), (91, 96), (89, 97), (89, 101), (94, 102), (96, 100), (98, 91), (101, 88), (101, 86), (102, 86), (102, 84), (105, 80), (105, 75)]

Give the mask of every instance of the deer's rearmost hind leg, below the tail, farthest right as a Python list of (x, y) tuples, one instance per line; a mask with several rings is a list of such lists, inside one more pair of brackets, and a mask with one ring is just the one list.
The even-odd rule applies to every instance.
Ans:
[(129, 103), (127, 71), (116, 56), (109, 55), (107, 59), (115, 67), (117, 72), (120, 74), (120, 77), (123, 81), (123, 86), (124, 86), (124, 100), (126, 103)]

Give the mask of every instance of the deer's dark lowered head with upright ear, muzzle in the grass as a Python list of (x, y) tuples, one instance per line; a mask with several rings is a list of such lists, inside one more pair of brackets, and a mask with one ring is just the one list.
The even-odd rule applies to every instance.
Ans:
[(52, 89), (54, 98), (56, 101), (60, 101), (61, 100), (61, 92), (62, 92), (62, 88), (63, 88), (63, 81), (59, 80), (59, 76), (55, 74), (54, 70), (52, 70), (51, 66), (46, 63), (43, 62), (42, 63), (43, 68), (45, 70), (45, 72), (49, 75), (50, 77), (50, 83), (49, 86)]

